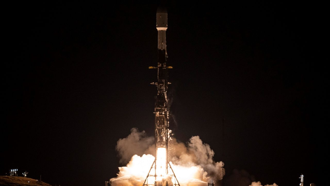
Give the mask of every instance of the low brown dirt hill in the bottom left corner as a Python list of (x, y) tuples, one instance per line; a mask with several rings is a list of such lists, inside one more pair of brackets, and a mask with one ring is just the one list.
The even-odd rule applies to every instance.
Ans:
[(19, 176), (0, 176), (0, 185), (2, 186), (51, 186), (48, 183), (37, 181), (32, 178)]

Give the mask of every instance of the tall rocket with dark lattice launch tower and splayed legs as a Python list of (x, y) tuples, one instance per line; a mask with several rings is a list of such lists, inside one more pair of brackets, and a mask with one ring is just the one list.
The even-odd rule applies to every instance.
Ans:
[[(158, 148), (166, 149), (166, 176), (174, 177), (175, 186), (180, 186), (177, 177), (174, 174), (174, 171), (168, 161), (168, 135), (169, 135), (169, 122), (168, 122), (168, 111), (167, 111), (167, 85), (168, 82), (168, 69), (172, 68), (171, 66), (166, 66), (166, 29), (167, 29), (167, 10), (165, 7), (159, 6), (156, 13), (156, 28), (158, 30), (158, 65), (157, 67), (149, 66), (149, 68), (157, 69), (158, 81), (151, 83), (157, 86), (157, 96), (155, 103), (155, 160), (152, 163), (148, 175), (143, 183), (143, 186), (157, 186), (156, 183), (156, 170), (157, 170), (157, 150)], [(150, 171), (154, 169), (154, 174), (150, 174)], [(153, 171), (152, 171), (153, 172)], [(165, 175), (162, 175), (165, 176)], [(148, 178), (154, 177), (153, 183), (148, 183)], [(166, 181), (166, 186), (168, 185)], [(160, 186), (160, 185), (159, 185)], [(162, 185), (165, 186), (165, 185)]]

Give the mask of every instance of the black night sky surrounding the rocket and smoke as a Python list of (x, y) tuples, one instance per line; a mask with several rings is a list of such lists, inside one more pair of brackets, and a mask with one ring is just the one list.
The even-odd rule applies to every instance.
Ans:
[[(301, 2), (300, 2), (301, 3)], [(131, 128), (154, 133), (157, 3), (3, 5), (1, 172), (100, 186)], [(279, 186), (323, 184), (325, 66), (311, 59), (311, 4), (170, 1), (170, 129)], [(324, 61), (325, 62), (325, 61)]]

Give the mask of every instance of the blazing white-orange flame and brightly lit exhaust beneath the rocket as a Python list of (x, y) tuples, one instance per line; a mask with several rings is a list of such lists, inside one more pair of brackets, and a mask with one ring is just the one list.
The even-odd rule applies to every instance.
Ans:
[[(143, 155), (142, 157), (134, 155), (131, 161), (127, 164), (126, 167), (119, 167), (119, 172), (116, 178), (112, 178), (113, 186), (141, 186), (143, 185), (146, 176), (150, 170), (149, 175), (155, 174), (155, 169), (151, 168), (154, 161), (154, 157), (150, 154)], [(181, 166), (174, 165), (172, 162), (169, 162), (177, 176), (181, 186), (207, 186), (207, 181), (210, 177), (204, 171), (201, 166)], [(162, 180), (168, 180), (169, 175), (166, 175), (166, 149), (158, 148), (157, 149), (157, 179), (156, 181), (162, 182)], [(169, 174), (171, 174), (170, 167)], [(175, 178), (172, 177), (172, 183), (175, 182)], [(155, 177), (148, 177), (148, 185), (154, 186)], [(157, 184), (160, 185), (160, 184)], [(171, 184), (173, 185), (173, 184)]]

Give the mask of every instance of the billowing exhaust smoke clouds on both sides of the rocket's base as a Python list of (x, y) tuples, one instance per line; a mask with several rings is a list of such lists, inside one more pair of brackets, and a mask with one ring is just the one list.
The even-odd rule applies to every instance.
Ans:
[[(154, 137), (146, 135), (137, 128), (117, 141), (116, 150), (120, 163), (116, 178), (111, 178), (112, 186), (141, 186), (154, 161)], [(169, 162), (181, 186), (207, 186), (207, 183), (219, 185), (224, 171), (223, 162), (213, 160), (214, 151), (210, 145), (203, 143), (199, 136), (192, 136), (184, 144), (173, 136), (169, 141)], [(171, 178), (164, 178), (163, 181)]]

